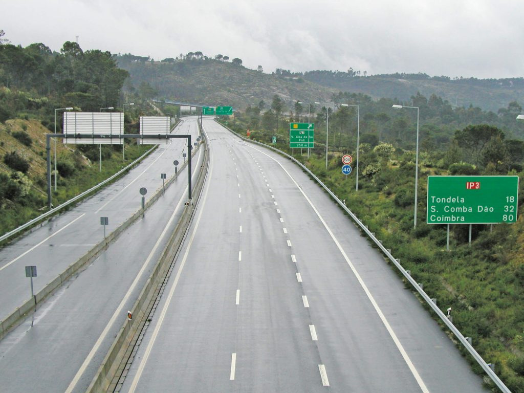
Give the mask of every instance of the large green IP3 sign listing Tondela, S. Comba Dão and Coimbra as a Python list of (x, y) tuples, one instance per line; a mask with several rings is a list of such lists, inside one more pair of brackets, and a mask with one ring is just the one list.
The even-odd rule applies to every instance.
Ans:
[(517, 221), (518, 176), (428, 176), (428, 224)]

